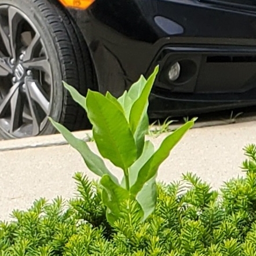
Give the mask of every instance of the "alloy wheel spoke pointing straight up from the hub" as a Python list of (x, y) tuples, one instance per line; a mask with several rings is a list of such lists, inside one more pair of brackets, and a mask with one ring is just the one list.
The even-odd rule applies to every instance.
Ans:
[(10, 37), (10, 52), (12, 57), (16, 59), (16, 46), (17, 46), (17, 30), (19, 23), (19, 15), (17, 10), (10, 6), (8, 8), (9, 18), (9, 37)]

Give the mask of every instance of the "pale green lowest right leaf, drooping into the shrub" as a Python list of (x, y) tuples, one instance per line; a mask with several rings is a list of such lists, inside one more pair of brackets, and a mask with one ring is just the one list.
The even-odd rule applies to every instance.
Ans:
[(136, 196), (137, 202), (140, 204), (144, 216), (142, 221), (145, 221), (148, 216), (153, 213), (156, 207), (156, 175), (155, 177), (151, 178), (148, 182), (146, 182), (141, 191), (138, 192)]

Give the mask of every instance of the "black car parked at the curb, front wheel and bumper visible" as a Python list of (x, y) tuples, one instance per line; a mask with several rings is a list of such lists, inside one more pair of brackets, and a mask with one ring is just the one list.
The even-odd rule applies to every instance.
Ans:
[(0, 0), (0, 133), (83, 129), (61, 81), (120, 96), (158, 64), (152, 118), (256, 105), (256, 1)]

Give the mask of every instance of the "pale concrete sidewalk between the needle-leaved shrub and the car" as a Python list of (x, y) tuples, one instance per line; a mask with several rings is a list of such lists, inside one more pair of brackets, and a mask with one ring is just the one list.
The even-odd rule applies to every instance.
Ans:
[[(76, 136), (86, 138), (85, 132)], [(164, 136), (151, 140), (157, 147)], [(192, 171), (218, 188), (223, 181), (242, 175), (242, 149), (249, 143), (256, 143), (256, 122), (190, 130), (160, 166), (159, 180), (170, 182)], [(89, 145), (96, 151), (93, 142)], [(108, 162), (107, 165), (120, 174)], [(75, 188), (72, 175), (76, 171), (95, 178), (79, 153), (65, 145), (59, 134), (0, 141), (0, 220), (8, 219), (13, 209), (30, 207), (40, 197), (70, 198)]]

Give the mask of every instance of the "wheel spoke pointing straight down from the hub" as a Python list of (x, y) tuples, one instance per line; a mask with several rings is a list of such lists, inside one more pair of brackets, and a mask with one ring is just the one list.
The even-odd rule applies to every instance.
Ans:
[(23, 123), (23, 99), (19, 90), (16, 90), (13, 93), (12, 98), (10, 99), (10, 133), (13, 133), (15, 130)]

